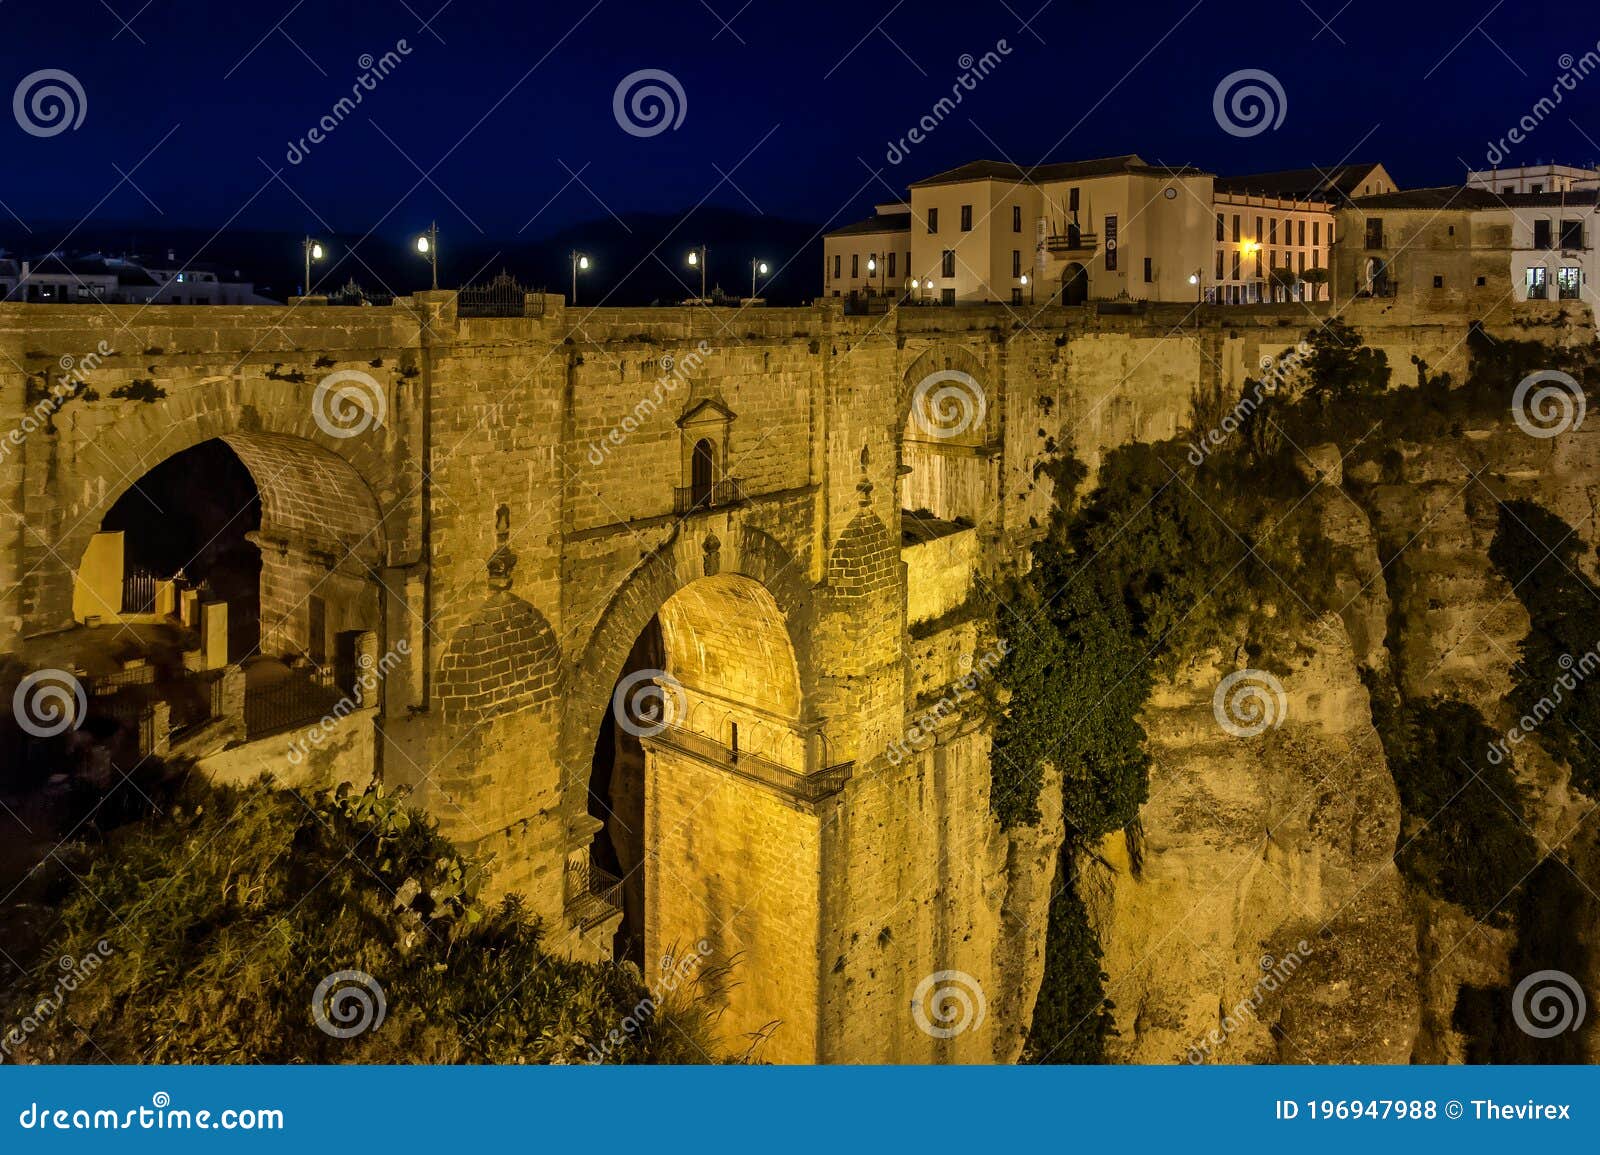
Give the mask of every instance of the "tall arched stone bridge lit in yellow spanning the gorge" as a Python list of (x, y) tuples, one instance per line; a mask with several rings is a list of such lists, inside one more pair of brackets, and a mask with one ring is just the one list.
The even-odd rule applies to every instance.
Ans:
[(530, 304), (0, 306), (0, 651), (115, 632), (98, 542), (187, 528), (230, 662), (365, 638), (384, 675), (360, 741), (202, 729), (202, 765), (411, 787), (552, 949), (691, 958), (734, 1051), (1013, 1059), (1059, 830), (990, 821), (973, 686), (1035, 466), (1178, 434), (1312, 318)]

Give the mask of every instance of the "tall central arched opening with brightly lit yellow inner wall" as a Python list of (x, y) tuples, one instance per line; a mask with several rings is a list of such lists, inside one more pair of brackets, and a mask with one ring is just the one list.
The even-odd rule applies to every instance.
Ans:
[(706, 974), (731, 966), (726, 984), (701, 993), (733, 1029), (786, 1017), (771, 992), (805, 969), (794, 944), (814, 910), (784, 904), (786, 872), (798, 867), (774, 865), (786, 853), (774, 832), (792, 814), (782, 789), (814, 752), (802, 713), (782, 609), (755, 579), (714, 574), (640, 632), (594, 749), (589, 813), (603, 829), (590, 869), (621, 880), (614, 955), (646, 981), (662, 957), (694, 949)]

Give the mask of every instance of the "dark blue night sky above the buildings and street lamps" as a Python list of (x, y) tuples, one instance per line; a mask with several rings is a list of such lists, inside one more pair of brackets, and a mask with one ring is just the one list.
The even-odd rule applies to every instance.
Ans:
[[(288, 163), (363, 54), (400, 40), (410, 54)], [(890, 165), (963, 56), (1000, 40), (1010, 54)], [(86, 114), (48, 138), (5, 118), (0, 222), (45, 251), (85, 218), (384, 246), (432, 218), (458, 242), (528, 242), (696, 205), (827, 226), (974, 157), (1120, 152), (1218, 173), (1376, 158), (1402, 186), (1440, 184), (1597, 42), (1600, 13), (1542, 0), (6, 0), (5, 90), (61, 69)], [(680, 126), (619, 128), (614, 90), (640, 69), (678, 80)], [(1213, 91), (1238, 69), (1278, 78), (1282, 126), (1218, 126)], [(1515, 152), (1600, 158), (1600, 72)]]

